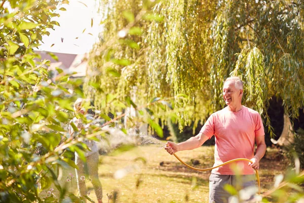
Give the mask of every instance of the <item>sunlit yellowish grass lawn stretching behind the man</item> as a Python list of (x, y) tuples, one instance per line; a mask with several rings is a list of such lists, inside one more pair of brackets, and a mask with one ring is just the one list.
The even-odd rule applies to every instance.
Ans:
[[(191, 163), (191, 159), (199, 160), (196, 167), (206, 168), (213, 165), (213, 150), (213, 146), (203, 146), (192, 151), (177, 152), (177, 155), (187, 163)], [(136, 160), (138, 157), (144, 158), (146, 163)], [(268, 149), (267, 155), (260, 161), (262, 192), (272, 188), (275, 175), (284, 173), (286, 164), (276, 157), (277, 152)], [(63, 177), (68, 173), (74, 174), (74, 169), (67, 168)], [(186, 202), (186, 199), (187, 202), (208, 202), (209, 176), (210, 172), (187, 168), (161, 145), (139, 146), (119, 155), (100, 156), (103, 202), (108, 202), (107, 194), (115, 192), (118, 193), (118, 202)], [(62, 184), (66, 182), (63, 179)], [(76, 181), (72, 181), (70, 191), (76, 194)], [(91, 190), (89, 197), (96, 201), (91, 183), (87, 183), (87, 186)]]

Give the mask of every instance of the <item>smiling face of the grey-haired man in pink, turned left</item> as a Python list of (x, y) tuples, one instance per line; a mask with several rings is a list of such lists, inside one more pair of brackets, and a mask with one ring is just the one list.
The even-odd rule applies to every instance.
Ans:
[(223, 98), (228, 106), (236, 106), (241, 103), (242, 100), (242, 89), (235, 87), (235, 81), (227, 81), (223, 86)]

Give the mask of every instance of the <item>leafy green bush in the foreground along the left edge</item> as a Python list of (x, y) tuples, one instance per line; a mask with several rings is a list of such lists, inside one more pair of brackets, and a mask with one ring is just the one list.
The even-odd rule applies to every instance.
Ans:
[[(66, 125), (73, 117), (72, 103), (80, 84), (62, 70), (51, 78), (50, 61), (41, 60), (33, 48), (49, 35), (58, 8), (68, 1), (3, 1), (0, 5), (0, 201), (58, 202), (66, 189), (59, 185), (62, 167), (72, 153), (87, 150), (79, 141), (93, 127), (66, 139)], [(70, 91), (70, 90), (71, 91)], [(87, 120), (84, 118), (84, 122)], [(90, 138), (90, 136), (88, 136)], [(84, 158), (84, 157), (82, 157)], [(60, 196), (42, 199), (54, 184)], [(78, 197), (76, 197), (78, 198)]]

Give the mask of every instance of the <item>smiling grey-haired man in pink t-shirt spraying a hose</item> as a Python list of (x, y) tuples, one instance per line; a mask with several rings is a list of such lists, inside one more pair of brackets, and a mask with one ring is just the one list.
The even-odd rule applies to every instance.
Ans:
[[(253, 163), (240, 161), (242, 187), (254, 186), (254, 169), (259, 168), (259, 160), (264, 156), (266, 145), (264, 128), (258, 112), (242, 105), (243, 82), (239, 77), (227, 78), (223, 85), (223, 98), (227, 105), (213, 113), (200, 133), (185, 142), (167, 143), (165, 148), (173, 154), (182, 150), (200, 147), (215, 136), (214, 166), (235, 158), (247, 158)], [(254, 155), (254, 142), (257, 144)], [(209, 178), (209, 202), (228, 202), (230, 194), (224, 190), (225, 184), (237, 186), (237, 176), (231, 164), (215, 168)]]

